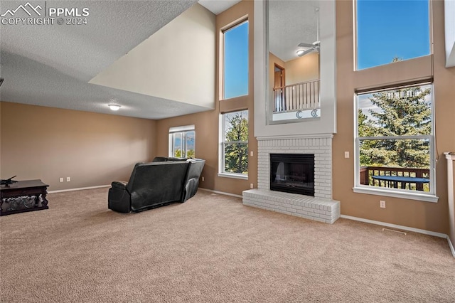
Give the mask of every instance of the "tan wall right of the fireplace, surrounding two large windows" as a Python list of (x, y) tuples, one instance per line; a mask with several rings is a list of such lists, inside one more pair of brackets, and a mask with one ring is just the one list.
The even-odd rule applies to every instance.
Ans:
[[(444, 151), (455, 150), (453, 129), (455, 68), (444, 68), (444, 3), (433, 2), (434, 55), (367, 70), (353, 71), (353, 3), (336, 1), (337, 34), (337, 119), (333, 139), (333, 198), (341, 201), (341, 213), (386, 223), (448, 233), (447, 178)], [(433, 60), (434, 59), (434, 60)], [(433, 60), (433, 69), (432, 69)], [(403, 83), (434, 76), (434, 105), (437, 139), (438, 203), (353, 193), (354, 92), (360, 88)], [(385, 200), (387, 208), (380, 208)]]

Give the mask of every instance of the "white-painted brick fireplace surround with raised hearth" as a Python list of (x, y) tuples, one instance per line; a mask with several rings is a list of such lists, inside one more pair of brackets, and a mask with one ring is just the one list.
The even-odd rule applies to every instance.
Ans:
[[(332, 135), (257, 140), (257, 188), (243, 192), (243, 204), (324, 223), (340, 217), (340, 202), (332, 200)], [(270, 154), (314, 154), (314, 196), (271, 191)]]

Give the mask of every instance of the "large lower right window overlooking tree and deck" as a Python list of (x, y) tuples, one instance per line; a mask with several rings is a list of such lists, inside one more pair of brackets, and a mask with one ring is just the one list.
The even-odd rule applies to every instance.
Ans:
[(434, 201), (432, 95), (431, 83), (357, 94), (357, 188)]

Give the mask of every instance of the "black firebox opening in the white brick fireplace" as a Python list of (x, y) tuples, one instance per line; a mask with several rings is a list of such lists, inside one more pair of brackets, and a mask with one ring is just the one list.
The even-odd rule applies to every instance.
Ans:
[(314, 196), (314, 154), (270, 154), (270, 190)]

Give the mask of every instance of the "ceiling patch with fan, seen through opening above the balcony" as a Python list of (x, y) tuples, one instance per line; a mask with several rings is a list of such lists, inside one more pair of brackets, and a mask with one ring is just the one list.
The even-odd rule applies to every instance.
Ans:
[(316, 41), (316, 8), (317, 0), (269, 0), (269, 50), (284, 61), (296, 59), (299, 43)]

